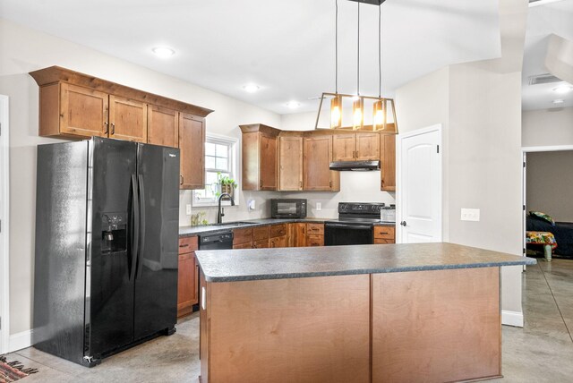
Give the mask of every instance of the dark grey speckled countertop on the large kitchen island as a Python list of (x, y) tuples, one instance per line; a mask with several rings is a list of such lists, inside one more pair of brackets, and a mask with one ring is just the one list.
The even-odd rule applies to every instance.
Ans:
[(196, 251), (208, 282), (535, 265), (532, 258), (453, 243)]

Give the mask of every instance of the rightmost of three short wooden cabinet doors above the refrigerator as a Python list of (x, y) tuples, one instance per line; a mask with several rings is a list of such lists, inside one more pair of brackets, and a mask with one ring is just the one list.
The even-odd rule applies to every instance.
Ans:
[(179, 147), (179, 114), (176, 110), (147, 107), (147, 141), (154, 145)]

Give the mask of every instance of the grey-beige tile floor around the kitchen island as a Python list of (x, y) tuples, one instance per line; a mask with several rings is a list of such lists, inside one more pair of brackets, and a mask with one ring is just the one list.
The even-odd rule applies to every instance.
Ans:
[[(573, 260), (539, 260), (524, 278), (526, 325), (503, 326), (503, 379), (500, 382), (573, 382)], [(197, 382), (199, 317), (87, 369), (32, 347), (8, 355), (39, 370), (24, 381)]]

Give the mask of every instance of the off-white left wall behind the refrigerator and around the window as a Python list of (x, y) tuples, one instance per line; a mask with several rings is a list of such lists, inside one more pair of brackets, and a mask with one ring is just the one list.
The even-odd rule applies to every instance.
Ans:
[[(259, 107), (61, 38), (22, 28), (9, 21), (0, 20), (0, 52), (0, 94), (10, 97), (11, 335), (21, 334), (31, 328), (36, 145), (59, 141), (38, 137), (38, 85), (28, 72), (60, 65), (136, 89), (208, 107), (215, 110), (207, 118), (208, 131), (237, 138), (240, 137), (239, 124), (280, 124), (279, 115)], [(261, 197), (262, 194), (257, 196)], [(182, 191), (181, 206), (187, 200), (191, 200), (191, 192)], [(243, 211), (245, 217), (264, 215), (262, 210), (247, 214), (245, 203), (228, 210), (228, 217), (238, 215), (238, 211)]]

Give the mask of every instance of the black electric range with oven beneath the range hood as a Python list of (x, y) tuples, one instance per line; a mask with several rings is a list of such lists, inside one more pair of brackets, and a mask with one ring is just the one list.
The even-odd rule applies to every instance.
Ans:
[(384, 203), (339, 202), (338, 220), (324, 223), (324, 244), (372, 244), (374, 224), (381, 223)]

